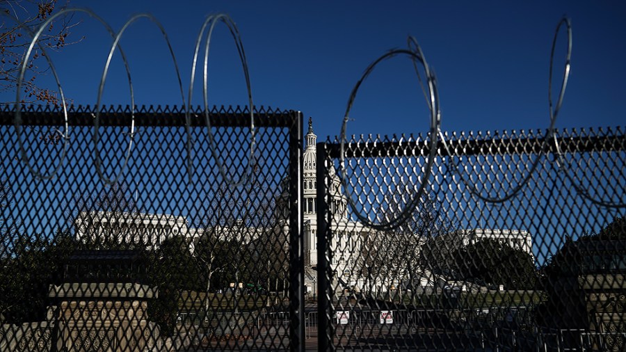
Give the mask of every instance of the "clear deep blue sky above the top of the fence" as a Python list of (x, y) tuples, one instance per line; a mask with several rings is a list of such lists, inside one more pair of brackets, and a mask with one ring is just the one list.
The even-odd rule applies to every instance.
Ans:
[[(572, 19), (572, 74), (558, 127), (606, 127), (626, 121), (626, 3), (622, 1), (72, 1), (91, 8), (116, 31), (137, 13), (165, 27), (185, 93), (193, 45), (209, 14), (227, 13), (239, 26), (256, 105), (303, 111), (320, 137), (339, 134), (348, 96), (365, 67), (408, 34), (419, 41), (440, 83), (444, 131), (543, 129), (549, 124), (549, 51), (556, 24)], [(556, 88), (565, 57), (561, 32)], [(54, 54), (66, 94), (94, 104), (111, 39), (85, 19)], [(246, 104), (234, 42), (225, 26), (214, 35), (210, 104)], [(142, 20), (122, 39), (137, 104), (182, 104), (166, 45)], [(116, 56), (106, 104), (128, 104)], [(197, 79), (200, 80), (200, 74)], [(556, 92), (555, 88), (555, 92)], [(555, 93), (556, 95), (556, 93)], [(202, 100), (195, 87), (194, 104)], [(426, 131), (427, 111), (410, 61), (394, 58), (366, 81), (351, 113), (350, 134)]]

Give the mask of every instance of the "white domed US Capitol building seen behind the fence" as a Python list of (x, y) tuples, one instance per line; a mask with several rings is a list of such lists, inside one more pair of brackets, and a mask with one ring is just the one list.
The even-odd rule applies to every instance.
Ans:
[[(312, 119), (308, 121), (308, 131), (305, 136), (306, 145), (303, 153), (303, 235), (304, 235), (304, 262), (305, 285), (308, 292), (316, 293), (317, 272), (315, 270), (318, 259), (317, 248), (317, 194), (316, 194), (316, 141)], [(399, 278), (367, 278), (364, 274), (363, 253), (368, 250), (364, 239), (371, 236), (380, 236), (376, 230), (366, 227), (348, 216), (348, 199), (342, 190), (339, 177), (334, 168), (330, 170), (330, 192), (332, 203), (333, 234), (330, 239), (332, 258), (330, 262), (333, 273), (332, 282), (337, 289), (364, 289), (369, 288), (387, 291), (401, 282)], [(280, 209), (277, 209), (280, 211)], [(130, 241), (147, 243), (150, 248), (159, 246), (168, 237), (184, 236), (189, 243), (189, 250), (194, 251), (194, 245), (207, 229), (191, 227), (184, 216), (167, 214), (145, 213), (113, 213), (107, 211), (83, 212), (74, 220), (74, 227), (78, 238), (81, 237), (114, 237), (115, 241)], [(236, 236), (244, 245), (250, 245), (262, 236), (262, 229), (237, 226), (216, 226), (211, 231), (220, 238)], [(287, 227), (284, 227), (287, 231)], [(237, 233), (234, 235), (234, 233)], [(285, 232), (287, 233), (287, 232)], [(456, 230), (444, 234), (445, 241), (454, 246), (467, 246), (484, 238), (497, 239), (513, 248), (521, 249), (532, 255), (531, 235), (523, 230), (495, 230), (469, 229)], [(419, 253), (420, 244), (416, 243), (415, 252)], [(366, 282), (369, 280), (369, 282)], [(424, 287), (442, 285), (434, 282), (432, 275), (422, 275), (419, 285)]]

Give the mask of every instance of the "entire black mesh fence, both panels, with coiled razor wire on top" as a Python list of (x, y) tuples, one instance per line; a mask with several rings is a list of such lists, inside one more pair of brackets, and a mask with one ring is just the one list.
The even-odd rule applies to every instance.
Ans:
[[(366, 68), (339, 138), (316, 144), (310, 120), (303, 145), (301, 113), (253, 106), (243, 42), (227, 15), (203, 22), (186, 95), (154, 17), (136, 15), (115, 33), (89, 10), (57, 16), (73, 12), (112, 38), (95, 106), (67, 106), (46, 56), (61, 109), (24, 106), (19, 84), (15, 106), (0, 109), (1, 351), (626, 346), (626, 131), (556, 130), (568, 19), (552, 41), (547, 129), (442, 131), (438, 81), (409, 37), (407, 49)], [(179, 107), (136, 106), (120, 40), (143, 19), (166, 42)], [(220, 23), (243, 70), (243, 109), (209, 106)], [(28, 32), (20, 82), (33, 48), (45, 52), (41, 31)], [(116, 50), (131, 104), (106, 109)], [(349, 138), (363, 83), (399, 57), (424, 93), (427, 133)], [(203, 106), (194, 108), (198, 65)], [(41, 142), (26, 128), (35, 126), (55, 137)]]

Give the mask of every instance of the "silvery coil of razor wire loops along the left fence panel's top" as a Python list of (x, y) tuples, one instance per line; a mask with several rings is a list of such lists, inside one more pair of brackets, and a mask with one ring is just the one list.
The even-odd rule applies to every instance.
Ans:
[[(95, 109), (95, 114), (93, 115), (94, 117), (94, 131), (93, 131), (93, 141), (95, 143), (95, 147), (94, 147), (94, 161), (95, 161), (95, 167), (98, 173), (99, 178), (108, 185), (113, 185), (115, 184), (115, 182), (118, 181), (118, 179), (120, 178), (120, 176), (122, 175), (122, 173), (124, 172), (124, 170), (127, 168), (128, 166), (128, 162), (131, 156), (131, 152), (132, 152), (132, 147), (133, 147), (133, 141), (134, 141), (134, 136), (135, 136), (135, 101), (134, 101), (134, 89), (133, 89), (133, 84), (132, 84), (132, 80), (131, 80), (131, 72), (130, 72), (130, 68), (129, 68), (129, 63), (127, 60), (126, 55), (124, 54), (124, 51), (122, 50), (122, 47), (120, 45), (120, 39), (123, 35), (123, 33), (125, 33), (125, 31), (127, 30), (127, 28), (133, 24), (134, 22), (136, 22), (138, 19), (141, 18), (146, 18), (149, 19), (151, 22), (153, 22), (161, 31), (161, 34), (163, 35), (163, 38), (166, 40), (166, 45), (168, 46), (168, 50), (170, 52), (170, 56), (172, 57), (172, 62), (173, 65), (175, 67), (175, 71), (176, 71), (176, 75), (177, 75), (177, 80), (178, 80), (178, 84), (179, 84), (179, 88), (181, 91), (181, 96), (182, 96), (182, 102), (183, 102), (183, 106), (186, 107), (185, 109), (185, 117), (186, 117), (186, 121), (185, 121), (185, 129), (186, 129), (186, 136), (187, 136), (187, 141), (186, 141), (186, 146), (187, 146), (187, 173), (188, 173), (188, 179), (191, 182), (191, 177), (193, 175), (193, 170), (192, 170), (192, 153), (191, 153), (191, 98), (193, 97), (193, 81), (195, 79), (195, 67), (198, 61), (198, 54), (200, 51), (200, 44), (202, 42), (202, 38), (204, 37), (204, 31), (207, 29), (207, 27), (209, 28), (208, 33), (207, 33), (207, 38), (206, 38), (206, 42), (205, 42), (205, 49), (204, 49), (204, 74), (203, 74), (203, 93), (204, 93), (204, 118), (205, 118), (205, 123), (207, 125), (207, 129), (208, 129), (208, 137), (209, 137), (209, 148), (211, 150), (211, 154), (212, 156), (215, 158), (216, 160), (216, 164), (218, 166), (218, 170), (220, 173), (220, 176), (223, 177), (223, 179), (225, 179), (225, 181), (227, 182), (227, 184), (229, 186), (232, 187), (239, 187), (242, 186), (243, 184), (246, 184), (248, 182), (248, 180), (250, 179), (250, 175), (252, 175), (252, 170), (255, 167), (255, 122), (254, 122), (254, 109), (253, 109), (253, 103), (252, 103), (252, 89), (250, 86), (250, 74), (248, 72), (248, 62), (246, 60), (246, 54), (245, 51), (243, 50), (243, 42), (241, 41), (241, 35), (239, 34), (239, 29), (237, 29), (236, 24), (234, 23), (234, 21), (225, 14), (218, 14), (218, 15), (211, 15), (209, 16), (204, 24), (202, 24), (202, 29), (200, 29), (200, 33), (198, 35), (198, 38), (196, 40), (195, 43), (195, 51), (194, 51), (194, 56), (193, 56), (193, 65), (192, 65), (192, 69), (191, 69), (191, 83), (190, 83), (190, 87), (189, 87), (189, 92), (188, 92), (188, 96), (189, 96), (189, 104), (187, 104), (187, 102), (185, 101), (185, 94), (184, 94), (184, 89), (182, 86), (182, 79), (181, 79), (181, 75), (180, 75), (180, 70), (179, 70), (179, 65), (176, 61), (176, 57), (174, 54), (174, 51), (172, 49), (172, 45), (170, 43), (170, 40), (168, 39), (168, 35), (165, 31), (165, 29), (163, 28), (163, 26), (161, 25), (161, 23), (154, 18), (152, 15), (149, 14), (138, 14), (135, 15), (134, 17), (131, 17), (131, 19), (129, 19), (124, 26), (122, 26), (122, 29), (120, 29), (120, 31), (118, 33), (115, 33), (115, 31), (113, 31), (113, 29), (111, 28), (111, 26), (104, 21), (104, 19), (102, 19), (102, 17), (99, 17), (98, 15), (96, 15), (95, 13), (93, 13), (93, 11), (88, 10), (86, 8), (67, 8), (67, 9), (63, 9), (61, 11), (59, 11), (58, 13), (55, 13), (54, 15), (51, 15), (50, 17), (48, 17), (48, 19), (43, 22), (41, 24), (41, 26), (38, 28), (36, 33), (33, 33), (28, 27), (24, 26), (23, 24), (19, 24), (19, 21), (17, 21), (17, 19), (15, 19), (15, 17), (8, 15), (6, 13), (4, 13), (3, 15), (6, 17), (9, 17), (11, 19), (13, 19), (13, 21), (15, 21), (17, 23), (17, 25), (24, 29), (26, 31), (26, 33), (28, 33), (31, 38), (33, 38), (31, 40), (31, 44), (29, 45), (29, 49), (26, 51), (26, 55), (24, 56), (24, 61), (22, 62), (22, 67), (19, 71), (19, 77), (18, 77), (18, 81), (17, 81), (17, 95), (16, 95), (16, 99), (15, 99), (15, 128), (17, 129), (17, 134), (18, 134), (18, 143), (19, 143), (19, 150), (20, 150), (20, 154), (22, 157), (22, 161), (24, 161), (24, 163), (26, 163), (26, 166), (28, 166), (29, 168), (29, 172), (31, 174), (33, 174), (36, 178), (38, 179), (51, 179), (52, 177), (54, 177), (57, 173), (58, 170), (61, 168), (61, 166), (63, 165), (63, 161), (65, 160), (65, 157), (67, 156), (67, 145), (69, 143), (69, 139), (70, 139), (70, 132), (69, 132), (69, 125), (68, 125), (68, 115), (67, 115), (67, 103), (65, 102), (65, 95), (63, 93), (63, 86), (61, 85), (61, 80), (58, 78), (58, 74), (56, 72), (56, 69), (54, 67), (54, 63), (52, 62), (51, 58), (49, 57), (49, 55), (44, 55), (46, 57), (47, 63), (50, 67), (50, 70), (52, 72), (52, 74), (54, 75), (54, 78), (56, 80), (56, 85), (58, 88), (59, 93), (61, 94), (61, 103), (63, 104), (63, 114), (65, 117), (65, 134), (61, 133), (61, 131), (58, 131), (58, 129), (56, 130), (57, 133), (61, 134), (61, 136), (63, 137), (64, 140), (64, 145), (63, 145), (63, 152), (61, 154), (61, 161), (59, 161), (58, 166), (56, 166), (56, 168), (51, 171), (51, 173), (49, 173), (48, 175), (42, 175), (42, 173), (40, 173), (40, 170), (35, 170), (35, 168), (33, 168), (33, 166), (31, 166), (31, 163), (29, 162), (29, 158), (27, 156), (26, 153), (26, 149), (24, 147), (24, 143), (22, 143), (22, 139), (19, 137), (21, 135), (21, 131), (22, 131), (22, 104), (20, 104), (20, 90), (22, 88), (22, 81), (24, 80), (24, 75), (26, 74), (26, 68), (27, 68), (27, 63), (28, 63), (28, 59), (31, 56), (31, 53), (33, 51), (33, 47), (35, 47), (35, 45), (38, 45), (38, 47), (40, 48), (40, 50), (42, 51), (43, 54), (45, 54), (46, 50), (45, 48), (41, 45), (41, 43), (38, 41), (38, 39), (40, 38), (40, 35), (42, 34), (42, 32), (47, 28), (47, 26), (49, 26), (49, 24), (54, 21), (54, 19), (56, 19), (59, 16), (62, 15), (67, 15), (68, 13), (77, 13), (77, 12), (81, 12), (81, 13), (86, 13), (87, 15), (89, 15), (90, 17), (94, 17), (95, 19), (97, 19), (100, 23), (102, 23), (102, 25), (106, 28), (107, 31), (109, 31), (109, 33), (111, 34), (111, 37), (113, 38), (113, 44), (111, 45), (111, 49), (109, 51), (109, 56), (107, 57), (106, 63), (104, 65), (104, 70), (102, 73), (102, 79), (100, 80), (99, 83), (99, 88), (98, 88), (98, 95), (97, 95), (97, 103), (96, 103), (96, 109)], [(211, 42), (211, 35), (214, 31), (214, 28), (216, 26), (216, 24), (218, 22), (223, 22), (229, 29), (232, 37), (235, 40), (235, 44), (236, 44), (236, 48), (237, 48), (237, 52), (239, 54), (239, 58), (241, 60), (241, 64), (243, 66), (243, 73), (244, 76), (246, 77), (246, 89), (248, 91), (248, 109), (249, 109), (249, 113), (250, 113), (250, 153), (249, 153), (249, 158), (248, 158), (248, 166), (246, 168), (246, 172), (244, 173), (244, 175), (242, 175), (242, 177), (238, 180), (235, 181), (234, 179), (231, 179), (230, 177), (228, 177), (228, 174), (225, 170), (225, 166), (223, 164), (223, 162), (220, 159), (220, 156), (216, 150), (216, 143), (215, 143), (215, 138), (213, 136), (213, 133), (211, 131), (211, 117), (210, 117), (210, 112), (209, 112), (209, 100), (208, 100), (208, 90), (207, 90), (207, 86), (208, 86), (208, 60), (209, 60), (209, 47), (210, 47), (210, 42)], [(130, 134), (129, 134), (129, 143), (128, 143), (128, 147), (126, 149), (125, 152), (125, 159), (124, 162), (122, 163), (122, 167), (120, 168), (119, 172), (117, 175), (115, 175), (115, 177), (109, 179), (106, 177), (106, 175), (104, 175), (104, 172), (102, 171), (102, 160), (100, 159), (100, 153), (99, 153), (99, 149), (98, 149), (98, 142), (99, 142), (99, 118), (100, 118), (100, 110), (98, 109), (98, 107), (100, 106), (101, 102), (102, 102), (102, 95), (104, 93), (104, 84), (106, 82), (106, 77), (108, 75), (109, 72), (109, 67), (111, 65), (111, 60), (113, 59), (113, 54), (115, 54), (115, 49), (118, 48), (120, 50), (120, 54), (122, 56), (122, 61), (125, 65), (125, 69), (126, 69), (126, 73), (127, 73), (127, 78), (128, 78), (128, 82), (129, 82), (129, 91), (130, 91), (130, 98), (131, 98), (131, 125), (130, 125)]]

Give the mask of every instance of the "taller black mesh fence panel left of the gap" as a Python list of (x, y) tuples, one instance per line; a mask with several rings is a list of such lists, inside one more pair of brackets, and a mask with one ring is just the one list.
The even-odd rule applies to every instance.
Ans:
[(303, 348), (300, 113), (7, 109), (0, 351)]

